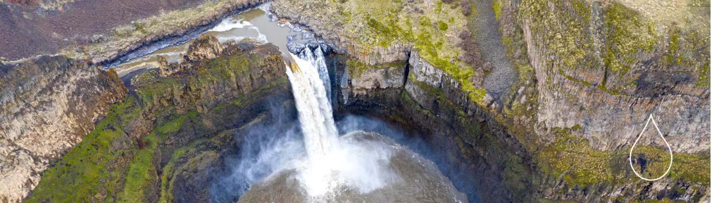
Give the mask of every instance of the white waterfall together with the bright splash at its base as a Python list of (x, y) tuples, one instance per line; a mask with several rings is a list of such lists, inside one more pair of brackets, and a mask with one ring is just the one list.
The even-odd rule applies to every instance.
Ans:
[[(350, 187), (367, 193), (394, 180), (392, 152), (382, 143), (341, 141), (333, 121), (328, 70), (321, 48), (305, 48), (287, 70), (308, 158), (297, 162), (297, 179), (314, 198), (330, 198)], [(320, 202), (320, 201), (318, 201)]]

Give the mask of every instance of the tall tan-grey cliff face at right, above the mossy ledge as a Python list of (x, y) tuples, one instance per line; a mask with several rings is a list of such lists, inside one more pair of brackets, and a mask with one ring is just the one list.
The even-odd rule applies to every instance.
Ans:
[[(645, 16), (619, 3), (521, 4), (511, 6), (520, 13), (571, 12), (545, 20), (539, 16), (545, 14), (527, 13), (519, 20), (538, 79), (538, 121), (545, 128), (580, 126), (592, 147), (617, 150), (631, 146), (652, 114), (674, 151), (708, 150), (709, 86), (703, 77), (709, 41), (701, 37), (708, 28), (689, 24), (647, 31), (654, 24), (636, 19)], [(550, 38), (549, 23), (562, 21), (565, 28), (582, 31)], [(579, 48), (554, 40), (577, 42)], [(562, 54), (568, 50), (575, 54)]]

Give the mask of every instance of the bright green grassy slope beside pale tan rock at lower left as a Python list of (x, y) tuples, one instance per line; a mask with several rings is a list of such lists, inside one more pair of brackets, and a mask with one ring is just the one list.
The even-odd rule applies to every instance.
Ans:
[[(115, 148), (114, 140), (124, 134), (122, 123), (137, 118), (140, 107), (134, 97), (114, 104), (105, 119), (55, 165), (43, 172), (38, 186), (26, 202), (113, 202), (113, 192), (122, 190), (127, 172), (123, 155), (131, 157), (136, 148)], [(129, 142), (131, 142), (129, 140)]]

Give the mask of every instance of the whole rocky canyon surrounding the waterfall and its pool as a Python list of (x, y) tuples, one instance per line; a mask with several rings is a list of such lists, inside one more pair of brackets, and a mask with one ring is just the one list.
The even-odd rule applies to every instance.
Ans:
[[(201, 35), (262, 4), (225, 2), (187, 24), (132, 23), (1, 62), (0, 202), (237, 201), (235, 157), (266, 136), (255, 129), (287, 131), (298, 113), (284, 45)], [(365, 116), (421, 140), (470, 202), (709, 199), (708, 21), (656, 23), (628, 1), (269, 5), (318, 36), (289, 51), (327, 48), (336, 123)], [(178, 61), (102, 70), (183, 42)], [(627, 157), (650, 114), (674, 153), (654, 182)], [(661, 175), (666, 148), (641, 145), (634, 165)]]

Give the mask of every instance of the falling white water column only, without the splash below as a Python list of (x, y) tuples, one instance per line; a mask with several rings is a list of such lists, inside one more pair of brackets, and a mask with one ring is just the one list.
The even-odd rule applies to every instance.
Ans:
[[(291, 53), (289, 53), (291, 54)], [(321, 48), (305, 48), (287, 70), (292, 84), (301, 131), (309, 158), (321, 158), (337, 148), (338, 130), (333, 122), (330, 98), (331, 82)]]

